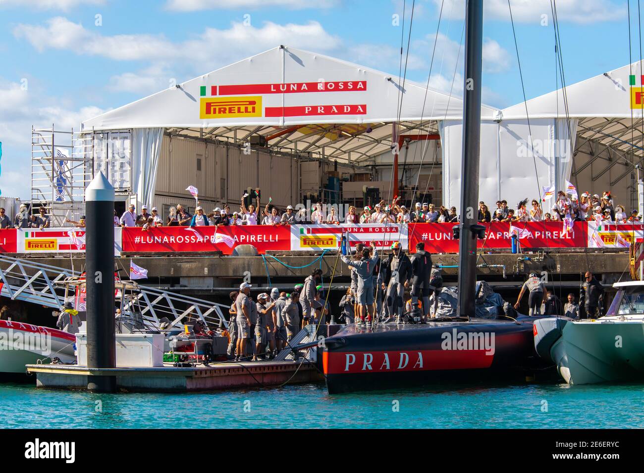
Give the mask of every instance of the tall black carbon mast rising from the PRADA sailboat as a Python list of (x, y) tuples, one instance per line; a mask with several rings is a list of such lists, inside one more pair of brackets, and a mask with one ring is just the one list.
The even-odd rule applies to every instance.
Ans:
[(465, 75), (463, 87), (463, 154), (461, 158), (459, 241), (460, 317), (475, 313), (477, 238), (484, 228), (477, 223), (478, 160), (481, 118), (481, 62), (483, 50), (483, 0), (468, 0), (466, 6)]

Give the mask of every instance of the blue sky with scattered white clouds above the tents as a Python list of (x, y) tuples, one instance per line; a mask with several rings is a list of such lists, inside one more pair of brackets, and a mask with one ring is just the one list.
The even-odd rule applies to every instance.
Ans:
[[(288, 44), (397, 75), (413, 0), (0, 0), (0, 189), (30, 197), (31, 125), (81, 120)], [(462, 87), (462, 0), (416, 0), (407, 77)], [(507, 0), (485, 0), (484, 102), (522, 100)], [(528, 98), (555, 88), (549, 0), (512, 0)], [(567, 84), (629, 63), (626, 1), (558, 0)], [(632, 60), (638, 3), (630, 2)], [(392, 15), (399, 15), (395, 26)], [(644, 14), (644, 11), (643, 11)], [(97, 17), (97, 15), (100, 15)], [(544, 17), (545, 15), (545, 17)], [(250, 23), (250, 24), (249, 24)], [(542, 24), (547, 23), (547, 24)], [(460, 93), (460, 91), (459, 91)], [(589, 98), (592, 100), (592, 97)]]

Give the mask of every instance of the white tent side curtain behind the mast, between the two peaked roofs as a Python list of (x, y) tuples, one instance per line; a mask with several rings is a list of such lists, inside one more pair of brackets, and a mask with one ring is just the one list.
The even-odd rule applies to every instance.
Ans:
[[(479, 200), (493, 211), (497, 200), (506, 199), (514, 209), (522, 199), (539, 199), (542, 187), (556, 182), (557, 190), (565, 189), (571, 176), (577, 124), (577, 119), (565, 118), (537, 118), (529, 123), (524, 119), (482, 120)], [(443, 204), (460, 211), (462, 121), (440, 122), (439, 133)]]

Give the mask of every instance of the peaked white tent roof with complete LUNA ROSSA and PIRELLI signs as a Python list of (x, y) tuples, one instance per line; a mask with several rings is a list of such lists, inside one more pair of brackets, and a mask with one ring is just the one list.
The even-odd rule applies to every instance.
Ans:
[[(457, 97), (410, 80), (403, 88), (390, 74), (278, 46), (86, 120), (82, 130), (164, 127), (242, 143), (261, 134), (272, 149), (325, 147), (328, 158), (352, 153), (359, 162), (391, 149), (398, 116), (399, 134), (437, 133), (437, 120), (460, 120), (461, 84), (454, 85)], [(491, 119), (498, 109), (481, 113)]]

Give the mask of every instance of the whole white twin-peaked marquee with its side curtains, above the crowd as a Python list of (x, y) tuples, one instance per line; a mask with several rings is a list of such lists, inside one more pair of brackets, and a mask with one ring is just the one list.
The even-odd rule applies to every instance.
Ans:
[[(621, 165), (620, 180), (612, 176), (608, 183), (631, 187), (625, 197), (632, 201), (644, 137), (641, 75), (634, 63), (568, 86), (565, 94), (560, 89), (528, 100), (529, 120), (524, 102), (482, 106), (480, 198), (513, 205), (536, 197), (538, 185), (562, 189), (575, 178), (585, 190), (603, 169), (594, 167), (605, 162), (608, 170)], [(82, 133), (132, 131), (133, 192), (148, 204), (164, 133), (238, 143), (261, 135), (269, 149), (354, 165), (370, 165), (390, 151), (394, 133), (439, 133), (443, 203), (458, 206), (462, 84), (454, 87), (449, 94), (403, 84), (357, 64), (279, 46), (86, 120)]]

